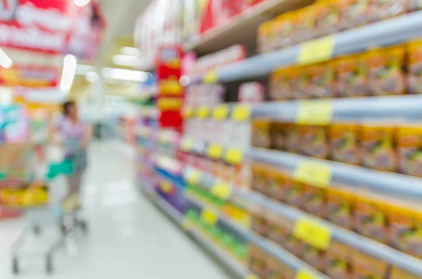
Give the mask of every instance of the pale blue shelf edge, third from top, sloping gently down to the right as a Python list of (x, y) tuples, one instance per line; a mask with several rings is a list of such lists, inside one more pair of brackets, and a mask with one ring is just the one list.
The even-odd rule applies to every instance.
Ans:
[(422, 179), (388, 171), (376, 171), (351, 164), (343, 164), (328, 160), (296, 155), (275, 150), (252, 148), (246, 152), (246, 157), (273, 164), (290, 173), (302, 162), (316, 162), (327, 164), (332, 169), (331, 185), (347, 185), (356, 188), (369, 188), (375, 192), (391, 194), (393, 196), (414, 199), (422, 198)]

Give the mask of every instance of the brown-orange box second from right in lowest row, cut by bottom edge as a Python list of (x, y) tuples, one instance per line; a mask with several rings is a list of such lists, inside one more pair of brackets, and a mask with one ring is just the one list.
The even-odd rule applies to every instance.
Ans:
[[(352, 250), (352, 247), (349, 247)], [(384, 279), (388, 272), (388, 264), (381, 259), (355, 249), (352, 261), (352, 279)], [(404, 279), (404, 278), (403, 278)]]

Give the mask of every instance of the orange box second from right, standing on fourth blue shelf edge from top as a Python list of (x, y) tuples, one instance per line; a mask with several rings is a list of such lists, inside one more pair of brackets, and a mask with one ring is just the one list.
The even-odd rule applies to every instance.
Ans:
[(356, 231), (373, 240), (388, 242), (388, 223), (385, 200), (361, 193), (354, 205)]

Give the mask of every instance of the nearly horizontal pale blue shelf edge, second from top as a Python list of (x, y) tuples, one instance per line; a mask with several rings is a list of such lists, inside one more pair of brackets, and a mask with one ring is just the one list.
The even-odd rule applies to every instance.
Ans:
[[(422, 16), (422, 14), (421, 14)], [(314, 100), (318, 103), (321, 100)], [(325, 102), (325, 100), (324, 100)], [(368, 98), (343, 98), (331, 100), (333, 122), (372, 120), (422, 119), (422, 96), (383, 96)], [(268, 102), (255, 105), (252, 117), (295, 122), (298, 119), (300, 101)]]

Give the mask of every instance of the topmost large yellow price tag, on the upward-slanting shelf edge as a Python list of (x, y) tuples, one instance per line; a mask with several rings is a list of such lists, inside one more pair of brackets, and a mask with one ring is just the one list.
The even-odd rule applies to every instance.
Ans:
[(307, 41), (300, 46), (298, 64), (307, 65), (330, 60), (333, 57), (334, 46), (333, 36)]

